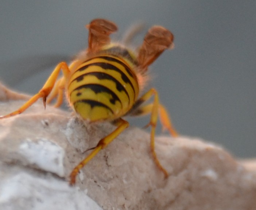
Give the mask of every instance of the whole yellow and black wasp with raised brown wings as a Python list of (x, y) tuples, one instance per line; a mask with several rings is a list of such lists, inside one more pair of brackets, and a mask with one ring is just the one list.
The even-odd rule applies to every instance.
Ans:
[[(95, 19), (86, 28), (89, 29), (89, 38), (84, 53), (80, 53), (70, 65), (60, 62), (38, 93), (16, 111), (0, 118), (23, 113), (39, 98), (42, 98), (44, 108), (53, 99), (56, 99), (55, 107), (59, 107), (66, 95), (70, 107), (83, 120), (90, 123), (112, 122), (116, 129), (90, 149), (90, 154), (71, 172), (70, 184), (74, 185), (79, 170), (129, 126), (123, 117), (151, 114), (147, 126), (151, 126), (152, 157), (167, 177), (168, 173), (155, 153), (158, 114), (164, 129), (172, 136), (177, 136), (177, 132), (166, 109), (159, 102), (158, 92), (151, 88), (142, 95), (140, 93), (147, 83), (148, 66), (163, 51), (172, 48), (174, 36), (166, 28), (155, 25), (148, 30), (141, 46), (132, 50), (120, 43), (111, 42), (110, 35), (117, 31), (112, 21)], [(61, 71), (62, 76), (59, 77)], [(153, 102), (144, 105), (151, 97)]]

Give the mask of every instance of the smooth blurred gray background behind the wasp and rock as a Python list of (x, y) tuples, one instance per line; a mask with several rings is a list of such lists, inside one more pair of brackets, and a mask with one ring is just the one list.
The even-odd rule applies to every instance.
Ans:
[[(84, 25), (94, 18), (114, 21), (116, 39), (138, 21), (146, 29), (163, 25), (174, 34), (175, 48), (151, 66), (150, 86), (179, 133), (255, 157), (255, 11), (255, 0), (2, 1), (0, 80), (36, 93), (59, 61), (87, 46)], [(148, 118), (131, 122), (143, 126)]]

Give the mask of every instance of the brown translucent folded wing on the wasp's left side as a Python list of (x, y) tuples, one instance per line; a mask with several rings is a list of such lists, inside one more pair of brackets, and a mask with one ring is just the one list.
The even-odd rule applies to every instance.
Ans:
[(115, 23), (105, 19), (95, 19), (86, 25), (89, 29), (88, 52), (96, 52), (98, 49), (110, 43), (109, 35), (117, 31)]

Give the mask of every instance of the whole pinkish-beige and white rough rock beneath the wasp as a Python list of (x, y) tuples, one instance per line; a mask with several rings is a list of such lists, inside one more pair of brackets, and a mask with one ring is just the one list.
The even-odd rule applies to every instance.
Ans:
[[(0, 86), (0, 115), (28, 96)], [(128, 128), (69, 186), (85, 150), (115, 127), (88, 124), (39, 100), (19, 116), (0, 120), (0, 209), (254, 210), (256, 160), (234, 159), (220, 146), (191, 137), (157, 137), (156, 167), (150, 136)]]

